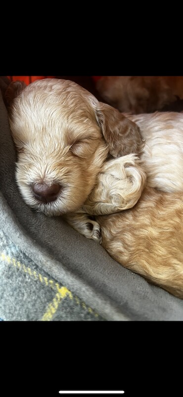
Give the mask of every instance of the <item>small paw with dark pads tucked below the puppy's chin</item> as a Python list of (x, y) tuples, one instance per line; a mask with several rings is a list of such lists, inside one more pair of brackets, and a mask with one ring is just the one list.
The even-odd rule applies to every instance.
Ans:
[(76, 212), (64, 215), (64, 219), (73, 227), (73, 229), (83, 234), (83, 236), (101, 244), (99, 224), (95, 222), (95, 220), (92, 220), (90, 215), (82, 212), (83, 211), (81, 210), (81, 213)]

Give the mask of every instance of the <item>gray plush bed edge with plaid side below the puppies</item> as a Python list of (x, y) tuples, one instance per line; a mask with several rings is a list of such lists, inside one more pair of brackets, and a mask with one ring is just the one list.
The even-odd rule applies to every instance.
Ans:
[(115, 262), (61, 217), (22, 200), (0, 78), (0, 318), (183, 321), (183, 300)]

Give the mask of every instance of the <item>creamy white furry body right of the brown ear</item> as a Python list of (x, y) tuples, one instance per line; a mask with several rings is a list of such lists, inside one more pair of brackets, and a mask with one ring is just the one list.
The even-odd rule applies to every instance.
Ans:
[(127, 115), (143, 139), (140, 155), (147, 185), (165, 192), (183, 191), (183, 113)]

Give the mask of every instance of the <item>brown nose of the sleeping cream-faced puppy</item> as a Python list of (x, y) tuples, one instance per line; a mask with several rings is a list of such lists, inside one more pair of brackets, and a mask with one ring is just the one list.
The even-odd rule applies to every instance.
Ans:
[(43, 202), (54, 201), (57, 198), (61, 186), (57, 183), (47, 185), (46, 183), (33, 183), (32, 190), (36, 199)]

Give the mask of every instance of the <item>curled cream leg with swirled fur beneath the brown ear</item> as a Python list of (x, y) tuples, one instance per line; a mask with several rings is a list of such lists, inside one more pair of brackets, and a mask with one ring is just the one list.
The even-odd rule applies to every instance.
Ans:
[(106, 161), (82, 209), (91, 215), (105, 215), (132, 208), (141, 196), (145, 181), (137, 155)]

